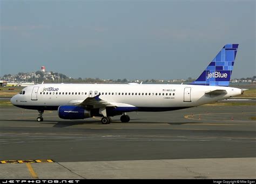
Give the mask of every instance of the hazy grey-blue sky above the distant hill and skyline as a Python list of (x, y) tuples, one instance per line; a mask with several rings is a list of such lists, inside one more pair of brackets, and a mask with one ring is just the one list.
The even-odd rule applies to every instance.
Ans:
[(255, 1), (0, 0), (0, 76), (197, 78), (238, 43), (231, 78), (256, 76)]

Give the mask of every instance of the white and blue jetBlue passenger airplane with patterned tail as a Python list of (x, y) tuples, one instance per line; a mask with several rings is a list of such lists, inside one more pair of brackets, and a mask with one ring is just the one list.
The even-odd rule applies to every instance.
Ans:
[(23, 88), (11, 103), (37, 110), (37, 121), (51, 110), (62, 119), (101, 117), (102, 124), (110, 124), (116, 115), (129, 122), (127, 112), (174, 111), (214, 103), (244, 93), (228, 87), (238, 45), (226, 44), (191, 84), (38, 84)]

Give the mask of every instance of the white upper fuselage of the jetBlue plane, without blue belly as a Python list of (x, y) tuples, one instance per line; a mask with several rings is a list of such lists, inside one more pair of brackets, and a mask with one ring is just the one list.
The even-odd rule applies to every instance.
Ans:
[[(213, 90), (226, 90), (226, 93), (206, 94)], [(42, 107), (57, 110), (58, 106), (81, 103), (98, 94), (100, 99), (117, 106), (143, 107), (143, 111), (193, 107), (241, 94), (241, 89), (234, 87), (174, 84), (39, 84), (25, 87), (23, 91), (25, 94), (17, 94), (11, 103), (35, 110)]]

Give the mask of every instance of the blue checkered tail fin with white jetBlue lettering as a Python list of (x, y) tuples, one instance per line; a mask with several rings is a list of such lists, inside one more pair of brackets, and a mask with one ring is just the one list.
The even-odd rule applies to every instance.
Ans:
[(227, 44), (192, 85), (228, 86), (237, 56), (238, 44)]

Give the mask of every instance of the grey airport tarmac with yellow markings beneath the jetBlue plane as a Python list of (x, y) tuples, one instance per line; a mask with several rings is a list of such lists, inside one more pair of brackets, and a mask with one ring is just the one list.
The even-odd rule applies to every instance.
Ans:
[(0, 107), (0, 179), (255, 179), (253, 105), (62, 120)]

